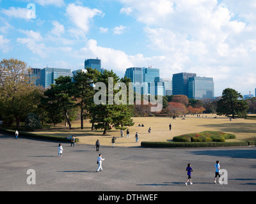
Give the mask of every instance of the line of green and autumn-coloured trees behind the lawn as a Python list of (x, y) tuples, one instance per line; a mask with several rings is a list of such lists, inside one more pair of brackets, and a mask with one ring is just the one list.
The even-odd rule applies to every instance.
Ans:
[[(256, 98), (241, 100), (243, 96), (234, 89), (225, 89), (221, 97), (216, 99), (188, 99), (184, 95), (163, 96), (163, 109), (160, 112), (150, 112), (151, 103), (145, 105), (141, 96), (139, 105), (129, 103), (116, 105), (95, 105), (93, 84), (103, 82), (106, 87), (106, 99), (111, 98), (119, 90), (108, 87), (109, 77), (113, 78), (113, 85), (123, 82), (127, 85), (130, 78), (119, 78), (113, 70), (86, 68), (77, 71), (73, 78), (59, 77), (51, 87), (44, 89), (35, 86), (29, 80), (31, 67), (18, 59), (3, 59), (0, 62), (0, 120), (4, 126), (13, 124), (20, 128), (21, 122), (40, 120), (40, 125), (59, 124), (63, 121), (72, 129), (72, 121), (79, 113), (81, 129), (84, 128), (84, 119), (89, 119), (93, 129), (102, 129), (106, 135), (108, 129), (126, 129), (133, 126), (132, 117), (137, 116), (173, 116), (200, 113), (218, 113), (245, 117), (247, 112), (256, 112)], [(127, 93), (128, 95), (128, 93)], [(108, 97), (109, 96), (109, 97)], [(134, 101), (137, 98), (134, 93)], [(121, 97), (121, 96), (120, 96)], [(140, 97), (139, 97), (140, 98)], [(147, 98), (147, 97), (146, 97)], [(128, 100), (128, 99), (127, 99)], [(34, 115), (34, 116), (33, 116)], [(37, 115), (38, 117), (35, 117)], [(28, 116), (31, 117), (28, 119)], [(29, 127), (29, 125), (28, 125)], [(38, 127), (38, 125), (36, 125)]]

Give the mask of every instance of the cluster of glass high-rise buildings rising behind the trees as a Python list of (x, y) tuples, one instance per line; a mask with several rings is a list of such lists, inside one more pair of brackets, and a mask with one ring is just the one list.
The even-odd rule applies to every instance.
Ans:
[[(101, 68), (100, 59), (85, 59), (85, 68), (97, 69), (101, 73), (104, 71)], [(36, 85), (42, 85), (47, 88), (54, 84), (54, 79), (62, 76), (72, 77), (76, 75), (77, 71), (84, 70), (78, 69), (72, 71), (71, 69), (60, 68), (33, 68), (29, 77)], [(172, 78), (161, 78), (159, 69), (157, 68), (127, 68), (125, 76), (131, 78), (133, 89), (140, 94), (152, 94), (160, 96), (170, 95), (185, 95), (192, 99), (214, 98), (214, 81), (211, 77), (197, 77), (196, 73), (175, 73)]]

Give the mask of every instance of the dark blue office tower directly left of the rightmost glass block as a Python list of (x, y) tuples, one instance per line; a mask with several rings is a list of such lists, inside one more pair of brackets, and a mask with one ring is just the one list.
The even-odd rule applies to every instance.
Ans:
[(196, 77), (196, 73), (177, 73), (172, 77), (172, 94), (188, 96), (188, 79)]

